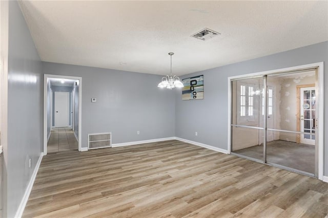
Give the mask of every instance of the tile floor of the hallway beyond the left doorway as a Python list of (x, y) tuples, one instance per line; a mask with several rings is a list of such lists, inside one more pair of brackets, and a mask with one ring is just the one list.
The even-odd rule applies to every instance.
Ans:
[(78, 144), (70, 127), (53, 128), (48, 141), (48, 153), (77, 150)]

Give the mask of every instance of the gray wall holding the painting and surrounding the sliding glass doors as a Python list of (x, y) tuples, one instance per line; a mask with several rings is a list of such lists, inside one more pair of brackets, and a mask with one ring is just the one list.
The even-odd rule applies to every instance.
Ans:
[[(176, 91), (175, 135), (214, 147), (228, 149), (228, 77), (328, 62), (328, 41), (286, 52), (201, 71), (180, 78), (204, 75), (204, 99), (181, 100)], [(324, 95), (328, 96), (328, 69), (324, 68)], [(324, 102), (324, 133), (328, 127), (328, 101)], [(198, 136), (195, 136), (198, 132)], [(328, 134), (324, 134), (324, 175), (328, 175)]]

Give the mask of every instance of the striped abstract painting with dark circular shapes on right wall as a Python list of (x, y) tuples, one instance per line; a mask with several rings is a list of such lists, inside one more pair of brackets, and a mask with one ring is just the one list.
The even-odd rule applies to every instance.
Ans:
[(182, 79), (182, 100), (197, 100), (204, 98), (204, 76)]

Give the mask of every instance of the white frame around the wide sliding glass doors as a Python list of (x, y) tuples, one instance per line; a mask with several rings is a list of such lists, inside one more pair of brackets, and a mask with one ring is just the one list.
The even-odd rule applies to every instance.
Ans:
[[(304, 64), (301, 66), (295, 66), (290, 68), (281, 68), (276, 70), (270, 70), (270, 71), (262, 71), (258, 73), (251, 73), (251, 74), (242, 74), (238, 76), (231, 76), (228, 77), (228, 154), (231, 154), (232, 149), (232, 139), (231, 139), (231, 124), (232, 124), (232, 80), (238, 79), (238, 78), (250, 78), (254, 76), (260, 76), (260, 75), (270, 75), (270, 74), (278, 74), (278, 73), (288, 73), (293, 71), (302, 71), (302, 70), (310, 70), (310, 69), (316, 69), (318, 72), (317, 75), (317, 93), (320, 93), (318, 98), (318, 179), (323, 180), (323, 136), (324, 136), (324, 129), (323, 129), (323, 106), (324, 106), (324, 80), (323, 80), (323, 62), (317, 62), (317, 63), (310, 63), (310, 64)], [(321, 120), (320, 120), (321, 119)]]

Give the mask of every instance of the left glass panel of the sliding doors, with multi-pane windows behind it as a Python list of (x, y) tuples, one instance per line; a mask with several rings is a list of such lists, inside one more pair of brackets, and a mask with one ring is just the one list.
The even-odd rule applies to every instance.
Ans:
[[(232, 151), (263, 160), (263, 77), (232, 81)], [(249, 128), (240, 127), (249, 126)], [(252, 151), (252, 148), (261, 151)], [(248, 150), (250, 148), (251, 150)]]

